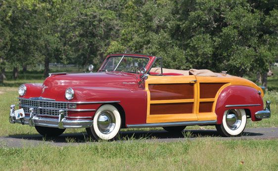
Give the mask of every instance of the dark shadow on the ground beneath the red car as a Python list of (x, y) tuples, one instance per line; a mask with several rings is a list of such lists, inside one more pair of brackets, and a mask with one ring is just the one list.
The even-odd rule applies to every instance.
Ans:
[[(261, 136), (263, 133), (244, 132), (242, 137)], [(92, 139), (84, 133), (64, 133), (58, 137), (44, 137), (39, 134), (33, 135), (9, 135), (9, 138), (18, 138), (25, 140), (51, 141), (57, 143), (69, 142), (92, 142)], [(179, 140), (181, 138), (201, 138), (201, 137), (220, 137), (220, 134), (213, 129), (206, 130), (184, 130), (179, 133), (171, 133), (165, 130), (150, 131), (120, 131), (117, 140)]]

